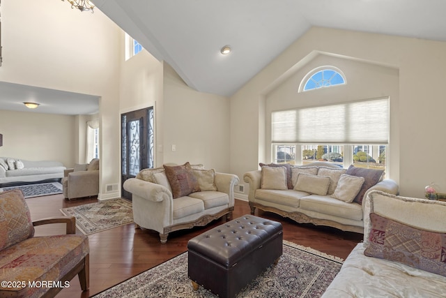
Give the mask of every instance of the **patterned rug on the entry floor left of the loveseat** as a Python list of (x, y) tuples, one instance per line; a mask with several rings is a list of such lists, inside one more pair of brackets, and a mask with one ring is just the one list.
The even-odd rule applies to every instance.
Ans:
[(63, 208), (61, 212), (75, 216), (76, 227), (86, 235), (133, 223), (132, 202), (121, 198)]

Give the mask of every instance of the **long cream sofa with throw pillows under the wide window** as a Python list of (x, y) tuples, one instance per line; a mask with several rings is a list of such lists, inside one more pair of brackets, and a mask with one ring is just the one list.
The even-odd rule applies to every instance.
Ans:
[[(284, 170), (283, 166), (287, 169)], [(249, 183), (251, 213), (254, 214), (255, 209), (259, 208), (289, 217), (298, 223), (327, 225), (363, 233), (362, 198), (372, 190), (398, 193), (395, 181), (380, 180), (383, 172), (378, 170), (353, 166), (342, 169), (324, 162), (303, 166), (263, 165), (261, 169), (247, 172), (243, 177)], [(364, 178), (361, 184), (362, 176), (367, 179)]]

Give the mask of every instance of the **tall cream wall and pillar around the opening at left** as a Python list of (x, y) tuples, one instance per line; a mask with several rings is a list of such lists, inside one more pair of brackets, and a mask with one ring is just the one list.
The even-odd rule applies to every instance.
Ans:
[(81, 13), (53, 0), (3, 1), (1, 23), (0, 81), (100, 96), (102, 198), (105, 185), (119, 181), (121, 29), (100, 10)]

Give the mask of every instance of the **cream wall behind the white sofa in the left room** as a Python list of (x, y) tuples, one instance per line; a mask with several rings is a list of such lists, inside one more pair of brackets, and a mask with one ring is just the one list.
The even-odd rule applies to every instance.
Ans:
[(0, 110), (0, 156), (75, 163), (75, 117)]

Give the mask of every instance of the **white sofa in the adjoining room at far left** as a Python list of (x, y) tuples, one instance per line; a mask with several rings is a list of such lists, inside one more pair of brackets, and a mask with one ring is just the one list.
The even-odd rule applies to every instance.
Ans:
[(60, 180), (63, 178), (63, 170), (66, 170), (66, 167), (59, 161), (25, 161), (20, 158), (0, 157), (0, 185)]

